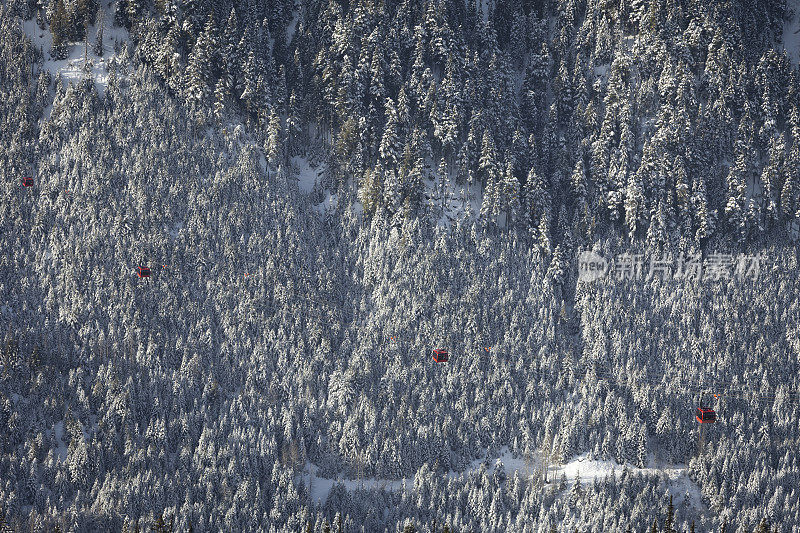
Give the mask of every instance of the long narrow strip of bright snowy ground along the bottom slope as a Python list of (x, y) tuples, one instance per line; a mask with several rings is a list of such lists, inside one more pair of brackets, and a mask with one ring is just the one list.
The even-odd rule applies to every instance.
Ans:
[[(514, 457), (514, 455), (504, 447), (500, 450), (500, 454), (488, 461), (489, 472), (493, 472), (497, 467), (497, 460), (500, 460), (503, 465), (503, 470), (507, 478), (511, 478), (515, 472), (518, 473), (523, 479), (534, 475), (540, 475), (538, 468), (541, 463), (538, 459), (531, 462), (526, 462), (524, 459)], [(449, 472), (448, 476), (451, 479), (457, 479), (461, 476), (468, 475), (470, 472), (477, 471), (481, 464), (487, 462), (487, 459), (476, 459), (462, 472)], [(685, 465), (657, 465), (652, 460), (650, 466), (647, 468), (637, 468), (633, 465), (621, 465), (611, 460), (597, 460), (589, 459), (588, 454), (582, 454), (575, 457), (570, 462), (563, 465), (553, 465), (548, 468), (548, 477), (550, 480), (557, 481), (561, 478), (562, 474), (567, 478), (567, 487), (571, 487), (575, 480), (580, 476), (582, 484), (592, 482), (594, 479), (602, 481), (606, 477), (615, 475), (619, 477), (622, 472), (627, 469), (630, 474), (636, 475), (655, 475), (660, 476), (666, 483), (667, 489), (675, 496), (676, 501), (686, 500), (689, 505), (696, 509), (702, 509), (701, 495), (699, 487), (689, 479)], [(383, 489), (383, 490), (407, 490), (411, 491), (414, 488), (414, 478), (404, 478), (399, 480), (384, 480), (375, 478), (366, 478), (361, 480), (354, 479), (330, 479), (318, 477), (318, 467), (314, 464), (308, 463), (304, 469), (303, 480), (306, 486), (310, 485), (311, 498), (316, 503), (324, 503), (328, 498), (331, 488), (336, 483), (342, 483), (348, 491), (356, 489)]]

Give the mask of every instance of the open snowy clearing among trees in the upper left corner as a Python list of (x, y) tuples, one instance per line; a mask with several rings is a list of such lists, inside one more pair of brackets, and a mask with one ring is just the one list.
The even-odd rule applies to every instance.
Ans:
[[(103, 94), (106, 86), (108, 85), (108, 67), (109, 63), (116, 57), (114, 49), (116, 43), (121, 45), (127, 42), (128, 31), (125, 28), (114, 27), (113, 13), (114, 4), (106, 3), (102, 6), (104, 11), (103, 22), (103, 57), (98, 57), (94, 54), (93, 48), (95, 43), (95, 36), (97, 34), (97, 26), (89, 26), (89, 46), (88, 55), (84, 57), (84, 43), (75, 42), (68, 45), (69, 55), (66, 59), (53, 59), (50, 56), (50, 50), (53, 46), (53, 34), (50, 33), (50, 28), (44, 30), (36, 25), (34, 19), (26, 20), (23, 22), (23, 30), (25, 34), (31, 39), (33, 45), (40, 48), (44, 53), (44, 69), (50, 71), (53, 79), (58, 74), (66, 82), (77, 82), (84, 76), (90, 76), (100, 94)], [(86, 69), (85, 65), (88, 59), (89, 68)], [(49, 113), (45, 114), (45, 118)]]

